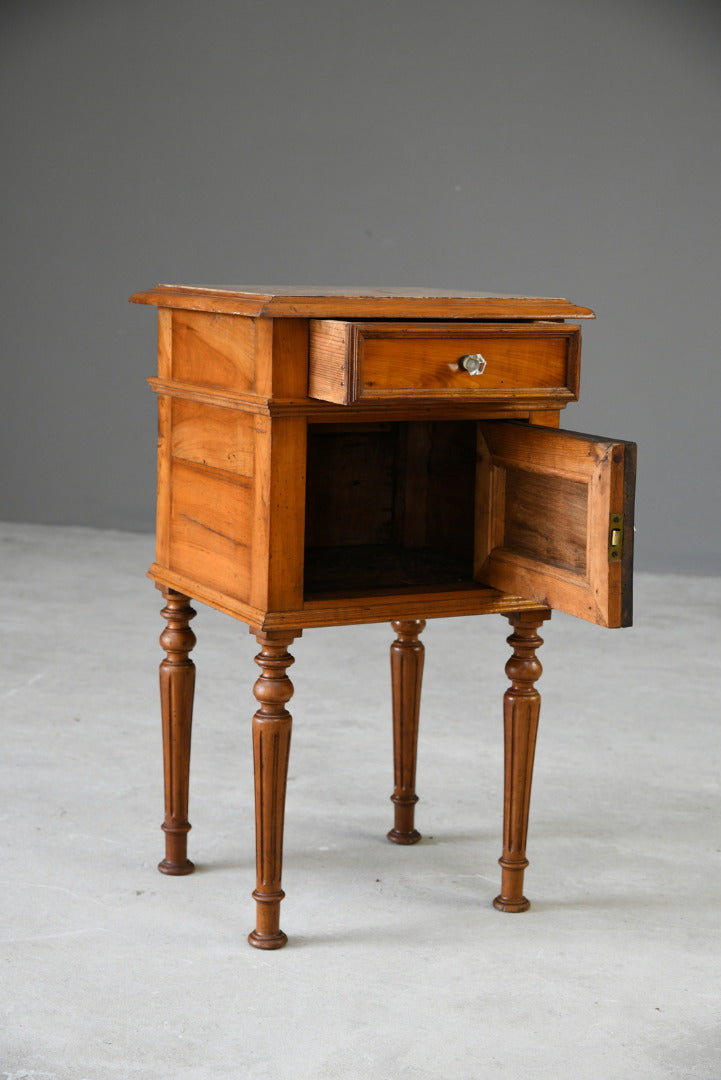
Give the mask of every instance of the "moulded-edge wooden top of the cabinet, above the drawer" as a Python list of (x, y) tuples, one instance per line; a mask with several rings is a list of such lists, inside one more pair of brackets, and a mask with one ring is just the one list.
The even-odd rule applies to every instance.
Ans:
[(157, 285), (134, 303), (227, 314), (312, 319), (593, 319), (562, 297), (417, 287)]

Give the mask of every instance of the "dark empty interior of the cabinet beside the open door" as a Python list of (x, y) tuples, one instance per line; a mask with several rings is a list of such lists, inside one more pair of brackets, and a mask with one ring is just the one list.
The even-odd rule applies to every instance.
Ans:
[(473, 585), (475, 420), (311, 423), (307, 598)]

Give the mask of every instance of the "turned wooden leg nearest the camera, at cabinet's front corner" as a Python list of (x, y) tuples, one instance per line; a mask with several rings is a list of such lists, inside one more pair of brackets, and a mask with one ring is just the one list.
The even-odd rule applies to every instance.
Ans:
[(256, 948), (282, 948), (287, 942), (280, 927), (283, 868), (283, 823), (290, 750), (293, 683), (286, 669), (294, 663), (287, 647), (300, 632), (257, 633), (260, 652), (255, 658), (260, 677), (253, 692), (260, 707), (253, 717), (253, 757), (256, 785), (256, 872), (253, 893), (257, 902), (256, 929), (248, 941)]

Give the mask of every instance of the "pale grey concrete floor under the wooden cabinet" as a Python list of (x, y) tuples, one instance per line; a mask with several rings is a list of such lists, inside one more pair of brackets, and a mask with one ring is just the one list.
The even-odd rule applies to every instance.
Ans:
[(0, 526), (0, 1080), (721, 1077), (721, 581), (554, 616), (529, 836), (499, 885), (507, 624), (424, 634), (418, 824), (391, 822), (385, 625), (293, 651), (282, 926), (250, 948), (255, 642), (199, 606), (190, 854), (162, 853), (152, 539)]

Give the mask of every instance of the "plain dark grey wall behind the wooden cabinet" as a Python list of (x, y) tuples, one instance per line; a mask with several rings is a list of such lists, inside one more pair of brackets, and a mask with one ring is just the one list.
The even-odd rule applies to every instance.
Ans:
[(151, 529), (159, 281), (567, 296), (638, 565), (721, 572), (717, 3), (2, 6), (0, 517)]

